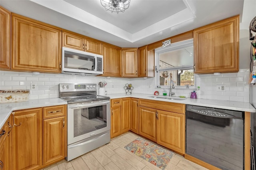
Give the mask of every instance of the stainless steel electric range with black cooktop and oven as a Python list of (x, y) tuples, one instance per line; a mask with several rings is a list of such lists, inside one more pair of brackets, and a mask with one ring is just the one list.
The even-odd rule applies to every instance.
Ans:
[(97, 95), (96, 84), (60, 83), (59, 96), (68, 102), (66, 160), (110, 142), (110, 97)]

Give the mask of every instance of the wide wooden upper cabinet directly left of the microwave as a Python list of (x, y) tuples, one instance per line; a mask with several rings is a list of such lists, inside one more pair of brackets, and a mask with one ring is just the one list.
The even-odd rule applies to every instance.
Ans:
[(61, 29), (12, 13), (12, 67), (61, 72)]

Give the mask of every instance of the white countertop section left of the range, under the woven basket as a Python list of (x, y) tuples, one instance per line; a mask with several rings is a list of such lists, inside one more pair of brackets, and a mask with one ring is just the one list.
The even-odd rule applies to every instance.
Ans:
[(0, 128), (2, 128), (4, 123), (7, 121), (12, 111), (21, 110), (21, 109), (32, 109), (37, 107), (66, 105), (66, 104), (67, 102), (60, 98), (36, 99), (36, 100), (13, 102), (13, 103), (0, 103)]

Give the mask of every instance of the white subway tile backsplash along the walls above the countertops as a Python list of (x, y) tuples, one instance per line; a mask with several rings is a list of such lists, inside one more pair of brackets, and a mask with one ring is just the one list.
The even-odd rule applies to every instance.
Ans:
[[(240, 69), (238, 73), (223, 73), (219, 76), (213, 74), (196, 75), (196, 86), (200, 86), (197, 92), (198, 98), (216, 99), (226, 101), (249, 102), (248, 84), (249, 69)], [(132, 83), (133, 93), (145, 93), (153, 95), (154, 91), (162, 94), (163, 89), (155, 88), (154, 78), (107, 78), (100, 76), (70, 75), (70, 74), (51, 74), (40, 73), (33, 75), (27, 72), (0, 71), (0, 90), (30, 89), (29, 99), (47, 99), (58, 97), (59, 83), (96, 83), (106, 81), (105, 87), (108, 94), (125, 93), (126, 83)], [(36, 89), (31, 90), (31, 83), (36, 83)], [(217, 85), (226, 85), (226, 91), (217, 91)], [(169, 93), (169, 88), (166, 89)], [(195, 89), (178, 89), (172, 92), (175, 96), (190, 97)]]

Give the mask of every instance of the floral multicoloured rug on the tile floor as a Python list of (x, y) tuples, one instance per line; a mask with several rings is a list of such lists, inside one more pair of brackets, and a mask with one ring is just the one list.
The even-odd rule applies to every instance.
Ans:
[(144, 160), (164, 170), (168, 162), (170, 162), (173, 152), (158, 146), (148, 140), (137, 138), (124, 148), (132, 153), (140, 156)]

